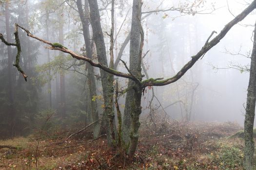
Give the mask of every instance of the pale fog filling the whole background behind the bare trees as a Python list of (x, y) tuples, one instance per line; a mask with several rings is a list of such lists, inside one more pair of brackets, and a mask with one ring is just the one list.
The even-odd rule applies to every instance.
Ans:
[[(196, 1), (195, 1), (196, 2)], [(219, 33), (221, 29), (239, 14), (246, 6), (244, 0), (207, 0), (204, 4), (193, 8), (197, 11), (195, 14), (183, 14), (179, 11), (168, 11), (171, 7), (180, 7), (183, 3), (188, 3), (187, 0), (144, 0), (142, 6), (142, 27), (144, 30), (144, 48), (143, 58), (144, 66), (147, 69), (149, 78), (169, 78), (174, 76), (190, 59), (195, 55), (205, 44), (207, 38), (213, 31)], [(192, 3), (189, 2), (189, 3)], [(106, 44), (107, 57), (109, 62), (110, 38), (108, 33), (111, 27), (110, 5), (106, 6), (103, 0), (99, 2), (101, 24), (104, 33)], [(8, 30), (13, 36), (14, 23), (17, 22), (29, 29), (33, 34), (47, 39), (49, 41), (59, 42), (59, 16), (63, 17), (63, 34), (64, 46), (77, 53), (82, 53), (84, 41), (82, 36), (82, 27), (79, 20), (79, 14), (76, 11), (77, 7), (74, 1), (61, 3), (61, 9), (58, 5), (55, 6), (44, 0), (36, 1), (10, 1), (8, 8), (10, 9), (10, 25)], [(115, 11), (115, 49), (114, 60), (116, 60), (118, 52), (124, 42), (127, 34), (130, 32), (132, 18), (132, 0), (120, 0), (116, 3)], [(6, 35), (6, 11), (7, 7), (2, 2), (0, 13), (0, 32)], [(19, 11), (24, 9), (25, 11)], [(50, 13), (47, 18), (47, 10)], [(158, 12), (150, 12), (160, 10)], [(162, 12), (162, 10), (166, 10)], [(192, 10), (192, 9), (191, 9)], [(146, 13), (143, 13), (146, 12)], [(234, 16), (233, 16), (234, 15)], [(243, 125), (247, 86), (249, 81), (249, 72), (239, 70), (240, 67), (249, 68), (250, 56), (253, 42), (252, 35), (254, 30), (255, 15), (250, 14), (242, 22), (236, 24), (228, 34), (214, 48), (207, 52), (186, 74), (176, 83), (165, 86), (155, 86), (155, 96), (153, 99), (154, 112), (158, 114), (167, 114), (170, 119), (185, 120), (186, 115), (191, 114), (192, 121), (235, 121)], [(48, 33), (46, 33), (48, 29)], [(90, 27), (92, 32), (92, 28)], [(36, 45), (33, 47), (33, 52), (37, 54), (32, 70), (34, 75), (28, 75), (29, 79), (26, 83), (21, 81), (20, 74), (12, 67), (12, 75), (15, 88), (22, 86), (22, 89), (28, 88), (26, 85), (35, 86), (37, 89), (37, 109), (29, 111), (31, 114), (37, 114), (43, 110), (49, 109), (49, 93), (52, 97), (52, 109), (59, 108), (59, 70), (60, 68), (68, 68), (64, 70), (65, 74), (65, 109), (66, 113), (81, 114), (85, 109), (88, 112), (87, 104), (84, 101), (90, 101), (88, 96), (88, 86), (86, 85), (87, 69), (85, 65), (71, 69), (72, 64), (79, 62), (75, 59), (56, 59), (56, 56), (62, 55), (58, 51), (49, 51), (45, 49), (45, 44), (28, 38), (25, 33), (20, 31), (25, 42), (30, 40), (30, 43)], [(48, 34), (48, 35), (47, 35)], [(92, 33), (91, 33), (92, 36)], [(214, 34), (213, 37), (215, 37)], [(12, 37), (14, 41), (14, 37)], [(7, 51), (4, 44), (1, 47), (1, 74), (5, 74), (7, 60)], [(25, 47), (25, 46), (23, 46)], [(92, 43), (92, 48), (96, 50), (95, 44)], [(12, 47), (13, 61), (15, 48)], [(47, 65), (49, 59), (51, 63)], [(27, 54), (21, 54), (27, 55)], [(32, 55), (32, 54), (31, 54)], [(23, 57), (24, 57), (23, 56)], [(94, 57), (96, 55), (94, 54)], [(122, 60), (129, 66), (129, 43), (122, 53)], [(31, 67), (26, 62), (32, 59), (22, 59), (24, 67)], [(94, 58), (94, 61), (97, 61)], [(49, 68), (51, 71), (49, 72)], [(99, 78), (99, 68), (94, 68), (97, 84), (97, 95), (102, 95), (102, 87)], [(120, 62), (118, 70), (128, 73), (127, 69)], [(143, 71), (142, 71), (143, 72)], [(83, 74), (81, 74), (83, 73)], [(14, 80), (15, 79), (15, 80)], [(49, 79), (51, 85), (49, 87)], [(118, 78), (118, 82), (122, 86), (121, 89), (127, 87), (128, 80)], [(47, 81), (48, 80), (48, 81)], [(145, 80), (145, 78), (143, 78)], [(31, 83), (32, 82), (32, 83)], [(48, 83), (47, 83), (48, 82)], [(1, 92), (8, 91), (7, 82), (2, 82)], [(48, 86), (47, 86), (48, 84)], [(49, 89), (50, 88), (50, 89)], [(29, 89), (28, 89), (29, 90)], [(49, 92), (50, 90), (50, 92)], [(21, 92), (22, 93), (22, 92)], [(63, 92), (62, 92), (63, 93)], [(16, 95), (15, 101), (29, 100), (28, 98), (20, 98)], [(28, 96), (28, 95), (26, 95)], [(3, 96), (4, 97), (4, 96)], [(150, 112), (149, 102), (152, 97), (152, 88), (146, 87), (144, 96), (142, 97), (142, 115), (147, 115)], [(57, 100), (58, 99), (58, 100)], [(61, 97), (60, 97), (61, 100)], [(34, 101), (35, 102), (35, 101)], [(86, 102), (86, 103), (87, 103)], [(99, 114), (103, 112), (103, 101), (97, 98)], [(83, 103), (83, 104), (82, 104)], [(125, 104), (125, 95), (119, 98), (119, 104)], [(19, 106), (19, 107), (22, 107)], [(3, 107), (2, 107), (3, 108)], [(78, 108), (80, 109), (78, 111)], [(164, 108), (164, 109), (163, 109)], [(3, 109), (2, 109), (3, 110)], [(123, 107), (121, 108), (123, 112)], [(6, 115), (6, 111), (1, 111), (1, 115)], [(22, 116), (21, 116), (22, 117)], [(34, 119), (34, 118), (33, 118)], [(86, 116), (82, 116), (86, 119)]]

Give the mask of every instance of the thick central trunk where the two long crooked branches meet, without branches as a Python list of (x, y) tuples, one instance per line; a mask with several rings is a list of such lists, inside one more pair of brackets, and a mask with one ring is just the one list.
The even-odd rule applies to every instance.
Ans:
[[(141, 26), (141, 0), (133, 1), (132, 26), (130, 35), (130, 74), (135, 77), (138, 82), (142, 80), (141, 74), (141, 55), (144, 42), (144, 33)], [(128, 89), (131, 89), (126, 94), (124, 118), (123, 118), (123, 140), (125, 143), (130, 143), (128, 153), (135, 153), (138, 143), (138, 128), (139, 115), (141, 113), (141, 96), (142, 86), (135, 81), (129, 80)], [(132, 119), (130, 122), (129, 120)], [(131, 126), (132, 124), (132, 126)]]

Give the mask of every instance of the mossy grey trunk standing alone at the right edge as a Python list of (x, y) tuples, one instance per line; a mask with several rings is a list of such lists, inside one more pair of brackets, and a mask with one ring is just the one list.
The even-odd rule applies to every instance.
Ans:
[[(256, 33), (256, 23), (255, 30)], [(244, 119), (244, 169), (253, 170), (254, 156), (254, 118), (255, 118), (255, 102), (256, 102), (256, 34), (254, 34), (254, 45), (251, 56), (251, 68), (249, 85), (247, 89), (246, 111)]]

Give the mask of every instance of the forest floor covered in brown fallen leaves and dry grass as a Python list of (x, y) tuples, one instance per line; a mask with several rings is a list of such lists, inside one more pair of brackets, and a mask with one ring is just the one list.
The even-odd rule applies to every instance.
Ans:
[(227, 138), (241, 129), (234, 122), (165, 120), (155, 126), (144, 119), (132, 160), (88, 131), (69, 140), (59, 131), (1, 140), (19, 148), (0, 149), (0, 170), (242, 170), (243, 140)]

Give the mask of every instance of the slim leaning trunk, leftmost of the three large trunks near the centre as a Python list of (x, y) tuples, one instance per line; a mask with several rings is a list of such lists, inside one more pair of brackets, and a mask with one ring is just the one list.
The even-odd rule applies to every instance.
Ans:
[[(79, 11), (79, 17), (82, 22), (82, 28), (83, 28), (83, 38), (85, 42), (85, 49), (86, 49), (86, 55), (88, 58), (92, 59), (92, 49), (91, 49), (91, 37), (90, 37), (90, 30), (89, 30), (89, 9), (88, 9), (88, 0), (85, 0), (85, 15), (82, 9), (82, 2), (81, 0), (77, 0), (77, 7)], [(93, 96), (97, 95), (96, 92), (96, 83), (95, 83), (95, 77), (94, 77), (94, 68), (87, 63), (86, 67), (88, 68), (88, 86), (89, 86), (89, 99), (90, 99), (90, 113), (92, 114), (92, 121), (97, 123), (93, 126), (93, 136), (94, 138), (97, 138), (100, 132), (100, 124), (98, 121), (98, 104), (97, 100), (93, 101)]]

